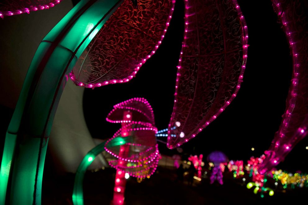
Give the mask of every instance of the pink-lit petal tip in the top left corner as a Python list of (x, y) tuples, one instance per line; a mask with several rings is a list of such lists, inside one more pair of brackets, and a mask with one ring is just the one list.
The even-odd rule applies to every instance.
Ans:
[(23, 13), (29, 14), (30, 11), (49, 9), (59, 4), (61, 1), (62, 0), (5, 1), (0, 5), (0, 17), (3, 19), (4, 16), (14, 16)]

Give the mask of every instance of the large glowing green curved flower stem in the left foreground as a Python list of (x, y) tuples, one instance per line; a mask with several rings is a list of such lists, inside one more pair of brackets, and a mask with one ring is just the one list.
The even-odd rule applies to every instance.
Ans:
[(0, 204), (41, 204), (48, 136), (77, 59), (122, 0), (82, 0), (42, 40), (7, 129)]

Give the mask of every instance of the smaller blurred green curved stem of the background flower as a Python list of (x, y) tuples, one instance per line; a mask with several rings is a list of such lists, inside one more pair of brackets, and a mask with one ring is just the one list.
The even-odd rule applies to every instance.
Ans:
[[(116, 137), (108, 143), (108, 147), (113, 146), (120, 146), (124, 145), (128, 142), (132, 142), (132, 136), (128, 137)], [(84, 174), (87, 171), (88, 166), (93, 162), (95, 157), (104, 151), (105, 143), (103, 142), (93, 149), (91, 149), (81, 160), (79, 167), (76, 171), (75, 175), (75, 182), (73, 188), (73, 204), (74, 205), (84, 205), (84, 190), (83, 190), (83, 183), (84, 183)]]

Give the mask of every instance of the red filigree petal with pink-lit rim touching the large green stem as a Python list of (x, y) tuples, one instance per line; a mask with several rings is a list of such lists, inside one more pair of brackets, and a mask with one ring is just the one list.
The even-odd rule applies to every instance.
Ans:
[(76, 85), (128, 82), (161, 44), (174, 0), (125, 0), (93, 38), (73, 68)]

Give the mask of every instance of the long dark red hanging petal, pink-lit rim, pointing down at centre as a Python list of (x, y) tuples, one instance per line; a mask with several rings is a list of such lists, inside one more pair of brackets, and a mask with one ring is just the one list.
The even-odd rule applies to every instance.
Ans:
[[(231, 103), (241, 86), (247, 60), (247, 25), (236, 0), (184, 2), (184, 41), (177, 66), (173, 113), (168, 125), (167, 146), (170, 149), (194, 138)], [(214, 19), (214, 22), (204, 19)], [(216, 28), (218, 23), (223, 24), (220, 30), (224, 27), (229, 30), (220, 33)], [(220, 33), (217, 37), (215, 29)], [(221, 39), (224, 47), (215, 44), (212, 36)], [(224, 67), (220, 67), (222, 61), (225, 61)], [(217, 74), (218, 70), (224, 70), (224, 73)], [(176, 129), (171, 130), (174, 126)]]

